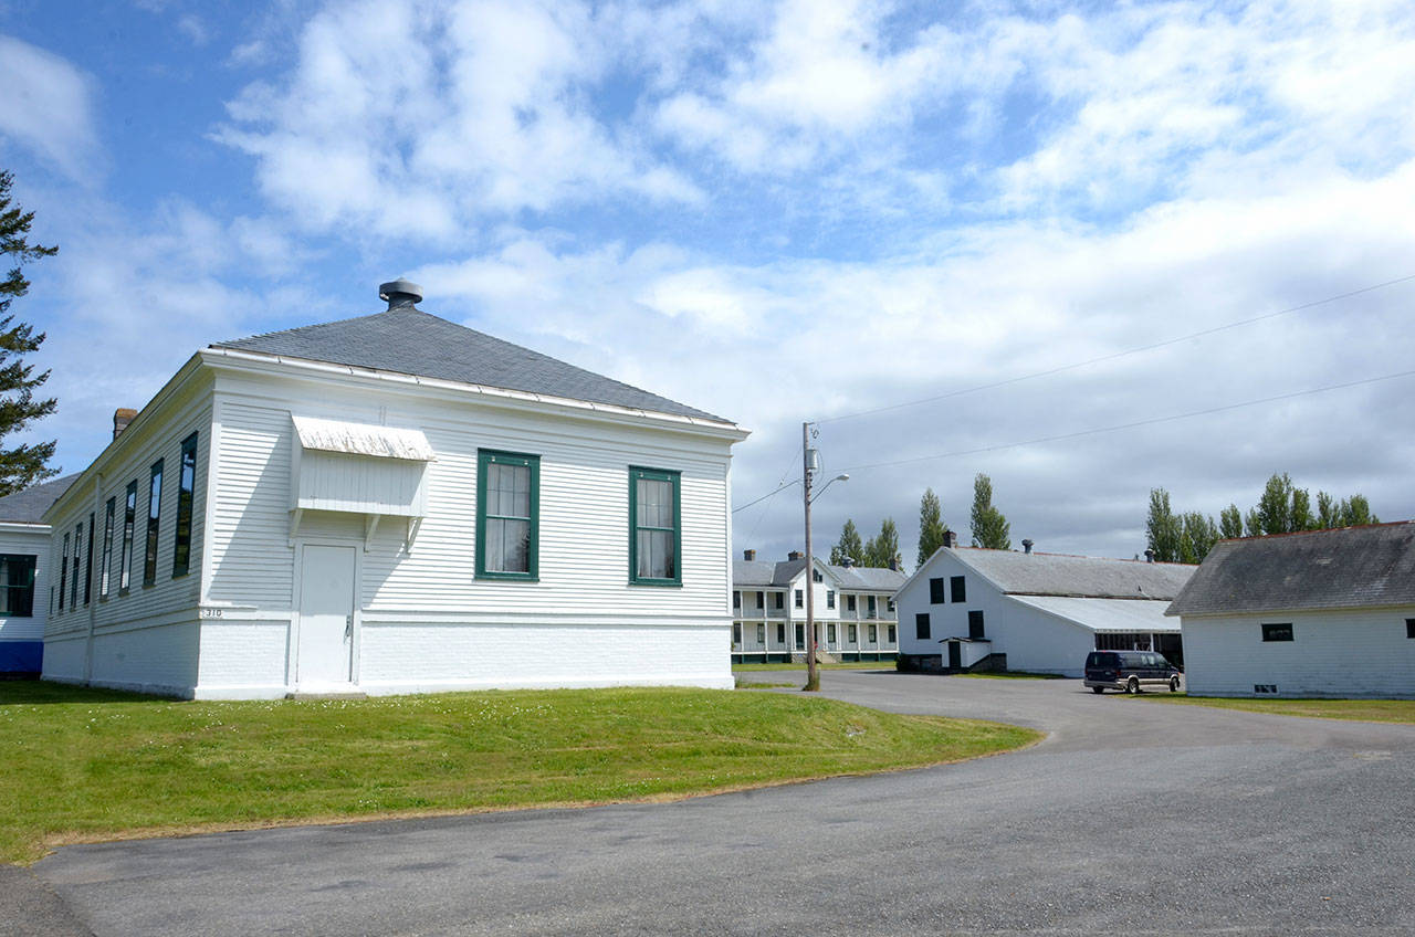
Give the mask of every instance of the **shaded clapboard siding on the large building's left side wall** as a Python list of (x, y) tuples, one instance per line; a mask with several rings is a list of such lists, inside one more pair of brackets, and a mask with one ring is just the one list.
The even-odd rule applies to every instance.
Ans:
[[(207, 468), (211, 459), (211, 401), (207, 395), (197, 393), (184, 405), (174, 405), (157, 416), (160, 419), (140, 427), (130, 427), (125, 432), (115, 443), (116, 449), (110, 450), (112, 457), (103, 466), (102, 471), (92, 468), (86, 471), (47, 515), (54, 528), (48, 558), (51, 570), (61, 569), (65, 534), (72, 541), (75, 528), (82, 525), (79, 536), (83, 541), (78, 603), (72, 603), (69, 596), (65, 596), (62, 611), (58, 610), (58, 602), (54, 603), (54, 611), (50, 614), (45, 627), (47, 636), (86, 634), (91, 624), (95, 634), (142, 628), (151, 624), (156, 619), (173, 614), (188, 614), (191, 619), (195, 619), (201, 590), (202, 555), (207, 544), (205, 504)], [(190, 568), (187, 575), (174, 576), (173, 552), (177, 545), (181, 442), (191, 433), (197, 433), (197, 473), (192, 484)], [(163, 487), (158, 504), (157, 577), (151, 586), (143, 586), (150, 473), (153, 463), (158, 459), (163, 460)], [(132, 481), (137, 481), (137, 505), (133, 524), (130, 580), (129, 589), (125, 593), (119, 589), (123, 555), (123, 505), (127, 485)], [(109, 498), (115, 498), (115, 517), (108, 565), (109, 593), (108, 597), (103, 597), (103, 532)], [(95, 528), (92, 568), (88, 558), (91, 517)], [(74, 576), (72, 553), (74, 546), (71, 542), (71, 568), (68, 572), (71, 579)], [(85, 604), (83, 580), (88, 577), (92, 577), (89, 586), (91, 602)], [(59, 576), (50, 576), (50, 585), (55, 587), (58, 586), (58, 580)], [(35, 594), (35, 603), (38, 604), (40, 602), (41, 596)], [(45, 609), (48, 609), (48, 593), (42, 596), (42, 602), (45, 603)]]

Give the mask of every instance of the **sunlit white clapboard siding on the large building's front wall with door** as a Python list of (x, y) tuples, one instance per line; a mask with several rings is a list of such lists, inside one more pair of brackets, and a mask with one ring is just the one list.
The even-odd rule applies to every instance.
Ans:
[[(282, 386), (260, 399), (239, 385), (221, 399), (219, 491), (211, 602), (290, 609), (291, 412), (423, 430), (437, 453), (427, 467), (427, 515), (409, 552), (402, 518), (386, 517), (364, 555), (361, 606), (439, 610), (726, 616), (727, 443), (664, 432), (577, 427), (560, 416), (490, 408), (408, 405), (357, 391)], [(665, 436), (668, 439), (665, 439)], [(541, 457), (539, 582), (475, 579), (477, 450)], [(682, 587), (628, 579), (628, 467), (682, 473)], [(364, 515), (306, 512), (301, 539), (364, 536)]]

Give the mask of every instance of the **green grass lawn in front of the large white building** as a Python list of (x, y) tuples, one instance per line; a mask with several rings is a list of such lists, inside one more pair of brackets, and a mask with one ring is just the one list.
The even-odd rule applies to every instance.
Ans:
[(1040, 737), (801, 694), (177, 702), (0, 682), (0, 861), (123, 837), (668, 800), (954, 761)]

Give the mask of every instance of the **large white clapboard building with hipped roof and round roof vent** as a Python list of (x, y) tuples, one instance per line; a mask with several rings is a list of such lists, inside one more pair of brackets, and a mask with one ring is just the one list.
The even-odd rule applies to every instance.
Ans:
[(198, 351), (74, 481), (45, 515), (44, 677), (195, 698), (732, 686), (746, 432), (419, 311), (403, 280), (381, 296)]

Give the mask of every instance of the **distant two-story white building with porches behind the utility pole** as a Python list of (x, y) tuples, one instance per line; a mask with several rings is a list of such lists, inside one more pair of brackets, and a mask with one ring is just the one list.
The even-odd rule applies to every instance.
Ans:
[(805, 660), (805, 590), (812, 589), (816, 648), (841, 661), (893, 661), (899, 651), (897, 569), (832, 566), (805, 555), (760, 561), (743, 551), (732, 565), (732, 660), (766, 664)]

